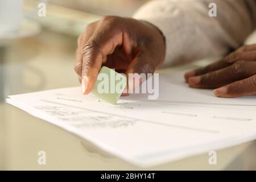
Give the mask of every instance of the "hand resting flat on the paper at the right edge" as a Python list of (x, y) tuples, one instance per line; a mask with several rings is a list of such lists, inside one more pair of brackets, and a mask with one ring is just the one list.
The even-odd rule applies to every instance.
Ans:
[(256, 94), (256, 44), (242, 46), (224, 59), (185, 73), (192, 88), (215, 89), (218, 97)]

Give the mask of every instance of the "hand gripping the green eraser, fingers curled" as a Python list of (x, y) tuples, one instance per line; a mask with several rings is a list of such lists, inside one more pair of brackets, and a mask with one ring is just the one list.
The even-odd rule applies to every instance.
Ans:
[(118, 16), (90, 23), (77, 40), (75, 71), (82, 93), (92, 91), (102, 65), (126, 75), (154, 73), (165, 49), (162, 34), (150, 23)]

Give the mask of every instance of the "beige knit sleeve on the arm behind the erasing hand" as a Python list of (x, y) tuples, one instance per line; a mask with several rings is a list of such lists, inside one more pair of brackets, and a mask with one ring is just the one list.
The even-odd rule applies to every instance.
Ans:
[[(217, 17), (208, 14), (212, 2)], [(255, 28), (255, 17), (256, 0), (159, 0), (134, 14), (166, 37), (165, 66), (224, 55), (241, 46)]]

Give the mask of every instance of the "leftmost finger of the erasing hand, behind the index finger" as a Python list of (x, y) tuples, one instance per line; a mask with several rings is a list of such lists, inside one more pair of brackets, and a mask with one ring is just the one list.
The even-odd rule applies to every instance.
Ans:
[[(86, 43), (90, 36), (92, 36), (97, 22), (90, 23), (86, 26), (83, 34), (77, 39), (77, 49), (76, 49), (76, 61), (74, 65), (75, 72), (81, 77), (82, 74), (82, 44)], [(81, 81), (80, 81), (81, 82)]]

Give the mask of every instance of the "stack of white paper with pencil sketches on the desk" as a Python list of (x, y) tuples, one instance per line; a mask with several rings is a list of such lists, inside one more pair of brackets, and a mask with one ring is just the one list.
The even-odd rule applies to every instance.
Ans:
[(255, 96), (217, 98), (188, 88), (180, 72), (159, 79), (158, 100), (132, 94), (111, 105), (64, 88), (9, 96), (7, 103), (141, 167), (256, 138)]

